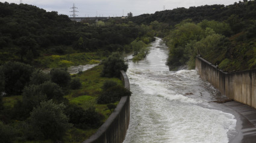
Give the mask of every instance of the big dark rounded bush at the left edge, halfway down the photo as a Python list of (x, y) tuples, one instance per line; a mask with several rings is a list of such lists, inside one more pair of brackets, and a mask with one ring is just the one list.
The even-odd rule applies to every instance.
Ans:
[(21, 94), (25, 85), (30, 82), (34, 68), (21, 62), (7, 62), (2, 65), (5, 81), (5, 93)]

